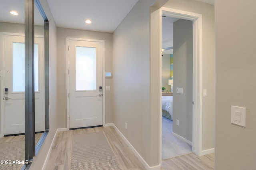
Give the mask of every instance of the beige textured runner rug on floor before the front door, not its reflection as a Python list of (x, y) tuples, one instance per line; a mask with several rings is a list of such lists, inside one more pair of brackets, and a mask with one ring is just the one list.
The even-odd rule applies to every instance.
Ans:
[(70, 170), (121, 170), (103, 132), (72, 136)]

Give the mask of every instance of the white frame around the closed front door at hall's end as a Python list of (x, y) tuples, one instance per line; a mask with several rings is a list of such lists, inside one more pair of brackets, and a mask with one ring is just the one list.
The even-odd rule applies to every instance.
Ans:
[(67, 130), (69, 130), (69, 40), (77, 40), (77, 41), (89, 41), (89, 42), (101, 42), (102, 43), (102, 120), (103, 126), (105, 126), (105, 41), (104, 40), (92, 40), (92, 39), (84, 39), (84, 38), (66, 38), (66, 105), (67, 105)]

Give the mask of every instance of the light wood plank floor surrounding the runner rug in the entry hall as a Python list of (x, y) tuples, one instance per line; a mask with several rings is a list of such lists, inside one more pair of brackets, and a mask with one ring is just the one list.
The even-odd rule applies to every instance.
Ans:
[(70, 159), (71, 140), (73, 134), (85, 134), (92, 132), (104, 132), (108, 143), (123, 170), (145, 170), (142, 163), (128, 148), (119, 134), (113, 127), (97, 127), (78, 130), (69, 130), (58, 132), (50, 157), (46, 166), (47, 170), (68, 170), (68, 162)]

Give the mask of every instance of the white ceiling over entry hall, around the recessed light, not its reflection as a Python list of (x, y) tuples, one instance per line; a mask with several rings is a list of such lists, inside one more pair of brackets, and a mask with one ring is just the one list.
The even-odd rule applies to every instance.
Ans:
[[(58, 27), (114, 32), (138, 0), (48, 0)], [(85, 20), (91, 20), (86, 24)]]

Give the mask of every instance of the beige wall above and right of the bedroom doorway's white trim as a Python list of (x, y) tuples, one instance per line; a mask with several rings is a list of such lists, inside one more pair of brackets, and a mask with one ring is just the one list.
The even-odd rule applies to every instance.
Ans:
[[(215, 140), (215, 40), (214, 6), (194, 0), (169, 0), (164, 7), (202, 14), (202, 87), (207, 97), (202, 100), (202, 150), (214, 148)], [(175, 77), (174, 77), (175, 79)]]

